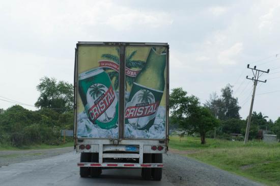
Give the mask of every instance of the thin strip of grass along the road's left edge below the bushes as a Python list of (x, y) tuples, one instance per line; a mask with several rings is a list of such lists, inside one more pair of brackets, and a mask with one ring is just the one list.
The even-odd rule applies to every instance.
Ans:
[(0, 150), (39, 150), (39, 149), (51, 149), (51, 148), (62, 148), (62, 147), (72, 147), (72, 146), (74, 146), (74, 142), (67, 142), (61, 145), (40, 144), (40, 145), (31, 145), (25, 147), (12, 147), (8, 145), (0, 144)]

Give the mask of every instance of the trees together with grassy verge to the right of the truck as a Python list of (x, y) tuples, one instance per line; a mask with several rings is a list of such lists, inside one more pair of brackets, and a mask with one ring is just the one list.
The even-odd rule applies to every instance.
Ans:
[[(238, 98), (231, 85), (220, 95), (210, 94), (204, 104), (182, 88), (170, 95), (170, 148), (249, 179), (268, 185), (280, 185), (280, 117), (268, 119), (253, 112), (249, 141), (244, 145), (246, 119), (239, 115)], [(262, 141), (263, 135), (276, 135), (273, 143)]]

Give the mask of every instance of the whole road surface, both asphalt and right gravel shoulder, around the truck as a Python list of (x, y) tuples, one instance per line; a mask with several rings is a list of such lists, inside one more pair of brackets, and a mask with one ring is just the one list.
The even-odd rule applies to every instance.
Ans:
[(142, 180), (140, 169), (107, 169), (99, 178), (80, 178), (78, 161), (78, 153), (68, 152), (3, 166), (0, 185), (262, 185), (174, 153), (163, 156), (161, 181)]

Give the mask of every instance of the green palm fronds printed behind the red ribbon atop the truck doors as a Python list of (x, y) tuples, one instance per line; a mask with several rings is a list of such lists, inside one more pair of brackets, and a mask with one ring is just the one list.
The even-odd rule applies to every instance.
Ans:
[[(117, 50), (118, 56), (115, 56), (112, 54), (103, 54), (101, 57), (104, 59), (110, 60), (110, 61), (114, 61), (117, 64), (120, 64), (120, 49), (116, 48), (116, 50)], [(145, 65), (144, 61), (132, 59), (136, 53), (137, 53), (137, 50), (134, 50), (130, 54), (127, 55), (127, 57), (126, 57), (126, 67), (127, 68), (143, 68), (144, 67), (144, 65)], [(109, 75), (111, 81), (113, 81), (113, 79), (115, 78), (114, 88), (115, 88), (115, 90), (117, 90), (119, 87), (119, 72), (110, 71), (110, 72), (107, 72), (107, 74)], [(126, 82), (125, 82), (125, 90), (126, 90), (127, 84), (131, 86), (134, 82), (135, 77), (126, 75), (125, 78), (126, 78)]]

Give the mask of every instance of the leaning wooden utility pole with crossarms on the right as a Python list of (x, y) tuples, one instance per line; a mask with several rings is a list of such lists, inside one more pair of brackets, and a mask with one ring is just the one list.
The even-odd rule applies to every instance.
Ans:
[[(266, 83), (266, 80), (265, 81), (260, 81), (259, 77), (263, 73), (269, 73), (269, 69), (267, 71), (258, 70), (258, 69), (256, 69), (257, 66), (254, 66), (254, 68), (250, 68), (249, 64), (247, 65), (247, 68), (251, 69), (253, 74), (254, 74), (254, 77), (252, 77), (252, 78), (248, 78), (248, 75), (246, 76), (246, 79), (250, 79), (250, 80), (252, 80), (254, 82), (254, 90), (253, 90), (253, 95), (252, 95), (252, 100), (251, 100), (251, 107), (250, 107), (248, 121), (247, 121), (244, 145), (248, 142), (249, 131), (250, 131), (250, 124), (251, 124), (251, 117), (252, 117), (252, 111), (253, 111), (253, 105), (254, 105), (254, 99), (255, 99), (255, 93), (256, 93), (256, 87), (258, 85), (258, 82)], [(261, 74), (260, 74), (260, 72), (261, 72)]]

